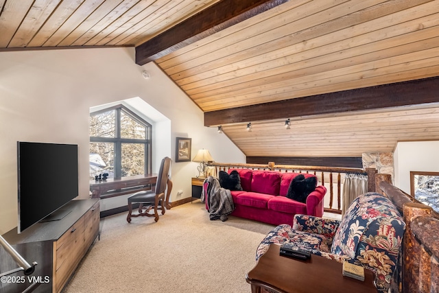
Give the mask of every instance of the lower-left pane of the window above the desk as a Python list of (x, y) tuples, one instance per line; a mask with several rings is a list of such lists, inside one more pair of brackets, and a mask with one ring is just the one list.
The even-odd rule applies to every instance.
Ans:
[(90, 143), (90, 180), (104, 173), (108, 173), (108, 178), (114, 178), (114, 170), (115, 144)]

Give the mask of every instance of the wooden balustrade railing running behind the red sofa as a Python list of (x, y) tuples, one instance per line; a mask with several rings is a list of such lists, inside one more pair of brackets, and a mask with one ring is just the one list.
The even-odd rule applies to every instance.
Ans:
[(324, 211), (328, 213), (342, 213), (342, 185), (346, 174), (363, 174), (368, 176), (368, 191), (375, 191), (375, 169), (354, 169), (341, 167), (322, 167), (322, 166), (296, 166), (296, 165), (276, 165), (274, 162), (264, 164), (245, 164), (245, 163), (209, 163), (209, 167), (215, 168), (215, 174), (219, 171), (228, 171), (234, 168), (246, 168), (255, 170), (271, 170), (279, 172), (296, 172), (314, 174), (318, 177), (318, 185), (327, 187), (327, 196), (324, 200)]

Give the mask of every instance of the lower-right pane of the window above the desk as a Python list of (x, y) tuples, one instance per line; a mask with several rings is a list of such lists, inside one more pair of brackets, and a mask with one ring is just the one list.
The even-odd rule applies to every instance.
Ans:
[(145, 145), (143, 143), (122, 143), (122, 176), (145, 173)]

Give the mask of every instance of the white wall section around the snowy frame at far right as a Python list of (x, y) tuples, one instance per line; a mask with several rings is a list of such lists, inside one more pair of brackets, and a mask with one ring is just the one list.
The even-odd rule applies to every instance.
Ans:
[(410, 171), (439, 172), (439, 141), (406, 141), (396, 144), (396, 187), (410, 194)]

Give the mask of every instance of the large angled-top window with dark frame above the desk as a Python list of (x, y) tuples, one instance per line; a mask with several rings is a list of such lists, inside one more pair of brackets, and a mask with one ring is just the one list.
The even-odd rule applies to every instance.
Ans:
[(90, 115), (90, 177), (151, 173), (152, 126), (119, 106)]

